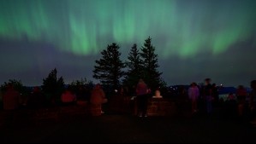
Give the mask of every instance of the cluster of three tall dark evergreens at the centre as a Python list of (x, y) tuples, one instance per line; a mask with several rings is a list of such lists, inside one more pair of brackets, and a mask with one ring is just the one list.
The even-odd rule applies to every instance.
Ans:
[(146, 38), (141, 48), (134, 43), (128, 54), (128, 60), (121, 60), (120, 47), (111, 43), (101, 52), (101, 58), (95, 60), (93, 78), (112, 88), (120, 85), (134, 87), (140, 78), (152, 89), (164, 86), (164, 80), (158, 72), (158, 55), (152, 45), (152, 38)]

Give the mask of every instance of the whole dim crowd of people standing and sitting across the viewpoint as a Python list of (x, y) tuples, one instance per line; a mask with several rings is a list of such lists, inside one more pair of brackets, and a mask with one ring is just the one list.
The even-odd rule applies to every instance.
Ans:
[[(183, 112), (187, 108), (190, 109), (192, 115), (196, 113), (211, 115), (212, 112), (222, 112), (224, 116), (248, 116), (252, 120), (255, 118), (256, 80), (251, 82), (250, 92), (247, 92), (247, 89), (240, 85), (236, 89), (235, 94), (229, 93), (226, 100), (223, 97), (219, 97), (218, 87), (216, 84), (211, 84), (210, 78), (205, 78), (204, 85), (192, 83), (188, 89), (180, 87), (178, 91), (178, 95), (174, 99), (177, 112)], [(161, 89), (156, 89), (152, 92), (143, 79), (140, 79), (139, 83), (132, 90), (121, 88), (115, 90), (115, 92), (120, 96), (133, 96), (137, 100), (137, 114), (139, 117), (147, 117), (148, 98), (163, 98)], [(88, 101), (91, 105), (100, 107), (101, 113), (104, 113), (101, 105), (106, 103), (108, 99), (106, 99), (106, 95), (100, 84), (96, 84), (93, 89), (81, 86), (76, 91), (68, 87), (60, 96), (61, 107), (76, 105), (78, 101)], [(3, 93), (3, 110), (7, 112), (14, 112), (16, 109), (24, 107), (30, 109), (51, 107), (54, 102), (56, 100), (47, 99), (39, 87), (34, 87), (26, 99), (22, 98), (20, 92), (12, 84), (9, 84)], [(254, 124), (254, 122), (252, 123)]]

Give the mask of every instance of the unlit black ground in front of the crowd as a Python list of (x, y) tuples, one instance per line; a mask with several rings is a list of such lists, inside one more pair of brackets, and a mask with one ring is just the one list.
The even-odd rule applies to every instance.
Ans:
[[(1, 128), (2, 142), (254, 142), (256, 129), (236, 120), (105, 114)], [(2, 143), (1, 142), (1, 143)]]

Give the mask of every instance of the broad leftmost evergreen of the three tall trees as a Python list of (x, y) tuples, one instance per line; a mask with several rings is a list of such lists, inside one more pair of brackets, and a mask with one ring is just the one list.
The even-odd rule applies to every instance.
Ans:
[(115, 89), (120, 84), (124, 67), (120, 60), (119, 49), (120, 47), (116, 43), (108, 45), (107, 49), (101, 52), (102, 58), (95, 61), (96, 66), (93, 70), (93, 78), (99, 79), (102, 84), (108, 84)]

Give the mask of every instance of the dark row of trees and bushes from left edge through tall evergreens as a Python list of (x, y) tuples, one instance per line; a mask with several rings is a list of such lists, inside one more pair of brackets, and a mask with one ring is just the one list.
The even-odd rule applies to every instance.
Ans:
[[(138, 48), (137, 44), (131, 47), (128, 58), (121, 60), (120, 47), (116, 43), (111, 43), (101, 52), (101, 58), (95, 60), (96, 65), (93, 69), (93, 78), (96, 78), (105, 87), (118, 89), (120, 86), (134, 88), (139, 79), (142, 78), (151, 89), (165, 86), (160, 78), (162, 72), (158, 72), (158, 55), (152, 45), (152, 38), (146, 38), (143, 46)], [(29, 93), (21, 81), (10, 79), (1, 85), (1, 91), (5, 91), (8, 84), (12, 84), (21, 93)], [(43, 79), (42, 90), (45, 95), (61, 95), (64, 89), (63, 77), (57, 77), (57, 69), (51, 70), (48, 77)], [(79, 89), (81, 86), (88, 85), (93, 87), (92, 81), (80, 79), (72, 82), (69, 86), (72, 89)]]

